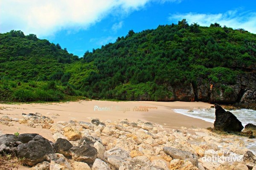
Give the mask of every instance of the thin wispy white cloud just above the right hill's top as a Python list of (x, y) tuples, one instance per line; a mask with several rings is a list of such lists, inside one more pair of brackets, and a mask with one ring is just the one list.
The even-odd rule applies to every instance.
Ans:
[(219, 14), (171, 14), (169, 20), (182, 20), (185, 18), (189, 24), (198, 23), (200, 26), (210, 26), (211, 23), (219, 23), (221, 26), (227, 26), (234, 29), (244, 28), (245, 30), (256, 34), (256, 12), (251, 11), (227, 11)]

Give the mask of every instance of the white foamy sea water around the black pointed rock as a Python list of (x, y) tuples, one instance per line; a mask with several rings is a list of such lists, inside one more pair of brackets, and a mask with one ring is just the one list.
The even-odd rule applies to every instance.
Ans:
[[(180, 113), (186, 116), (203, 119), (207, 122), (215, 121), (215, 108), (207, 108), (207, 109), (173, 109), (176, 113)], [(235, 111), (230, 111), (233, 113), (237, 119), (240, 120), (243, 126), (248, 123), (252, 123), (256, 125), (256, 111), (250, 109), (239, 109)], [(256, 155), (256, 139), (252, 139), (254, 142), (246, 142), (245, 145), (248, 149), (250, 149)]]

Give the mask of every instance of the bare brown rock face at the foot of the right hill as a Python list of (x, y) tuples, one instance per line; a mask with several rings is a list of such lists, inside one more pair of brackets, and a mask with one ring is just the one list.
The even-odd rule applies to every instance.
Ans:
[[(168, 85), (169, 96), (159, 101), (202, 101), (221, 104), (236, 104), (243, 108), (256, 110), (256, 76), (255, 69), (233, 79), (233, 83), (223, 85), (221, 82), (209, 82), (206, 77), (198, 77), (197, 84), (183, 83)], [(150, 100), (149, 94), (127, 97), (127, 100)]]

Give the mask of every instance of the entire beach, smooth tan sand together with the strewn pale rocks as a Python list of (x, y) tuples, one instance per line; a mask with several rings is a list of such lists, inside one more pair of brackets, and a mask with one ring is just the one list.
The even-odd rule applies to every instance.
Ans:
[[(253, 167), (255, 162), (253, 163), (250, 159), (246, 161), (246, 159), (254, 156), (250, 149), (253, 152), (255, 151), (253, 145), (255, 140), (232, 134), (216, 134), (206, 129), (207, 127), (213, 127), (212, 123), (175, 113), (172, 110), (206, 109), (211, 106), (211, 104), (204, 102), (111, 102), (98, 100), (41, 104), (2, 104), (0, 105), (0, 118), (7, 121), (7, 125), (4, 125), (4, 121), (2, 122), (0, 135), (6, 133), (14, 134), (15, 132), (20, 134), (38, 133), (41, 135), (35, 136), (35, 140), (31, 139), (30, 141), (32, 142), (18, 145), (16, 149), (20, 155), (22, 153), (37, 152), (34, 149), (29, 150), (29, 148), (34, 148), (34, 143), (38, 142), (39, 139), (41, 142), (47, 139), (53, 142), (52, 144), (55, 147), (47, 145), (47, 148), (49, 150), (52, 149), (53, 151), (51, 152), (54, 152), (56, 157), (42, 163), (48, 164), (42, 165), (45, 166), (44, 169), (47, 169), (47, 166), (67, 166), (69, 169), (80, 170), (81, 167), (79, 166), (81, 165), (79, 164), (83, 164), (83, 168), (86, 165), (86, 170), (109, 169), (117, 166), (115, 165), (116, 161), (111, 161), (111, 159), (104, 161), (107, 160), (108, 154), (111, 156), (112, 152), (116, 152), (115, 150), (122, 150), (123, 152), (119, 157), (117, 156), (118, 160), (123, 155), (127, 155), (127, 159), (122, 160), (116, 170), (119, 167), (122, 167), (121, 169), (125, 167), (126, 169), (131, 169), (134, 166), (133, 161), (136, 162), (136, 160), (143, 162), (143, 164), (141, 161), (136, 164), (144, 166), (144, 169), (151, 169), (152, 166), (157, 166), (164, 167), (163, 169), (165, 170), (172, 170), (173, 167), (178, 166), (176, 161), (181, 162), (179, 164), (180, 168), (181, 166), (187, 166), (198, 170), (215, 170), (221, 166), (228, 166), (226, 169), (235, 167), (227, 164), (228, 161), (222, 161), (221, 159), (216, 162), (215, 158), (218, 157), (218, 155), (214, 157), (216, 153), (226, 153), (223, 158), (232, 159), (231, 163), (236, 166), (244, 167), (245, 169), (247, 166)], [(35, 115), (37, 116), (23, 116), (22, 113), (36, 113)], [(99, 120), (93, 118), (98, 118)], [(70, 120), (74, 122), (70, 122)], [(98, 124), (94, 124), (95, 121), (98, 121)], [(29, 136), (31, 134), (24, 135)], [(62, 139), (59, 140), (59, 138)], [(3, 137), (3, 140), (5, 140), (5, 137)], [(57, 146), (59, 146), (57, 143), (63, 142), (63, 140), (71, 145), (67, 153), (56, 150)], [(79, 155), (80, 147), (85, 147), (84, 144), (87, 144), (86, 142), (81, 142), (83, 140), (92, 142), (93, 145), (88, 144), (87, 147), (93, 146), (97, 150), (94, 155), (91, 155), (94, 156), (91, 161), (90, 159), (80, 159), (84, 157), (83, 154), (86, 151), (84, 150)], [(95, 140), (94, 143), (93, 140)], [(96, 142), (97, 140), (100, 142)], [(42, 145), (44, 142), (41, 142), (38, 142), (38, 146), (36, 144), (39, 148), (38, 150), (40, 150), (40, 147), (44, 147)], [(52, 146), (50, 143), (49, 145)], [(186, 154), (195, 154), (195, 156), (190, 156), (189, 160), (184, 162), (183, 160), (188, 159), (186, 156), (180, 157), (179, 154), (176, 157), (173, 155), (175, 152), (171, 152), (171, 150), (179, 151), (180, 154), (185, 151)], [(211, 151), (213, 155), (209, 155), (208, 151)], [(67, 154), (68, 159), (62, 153)], [(237, 156), (233, 157), (234, 154), (237, 154)], [(247, 156), (248, 154), (249, 156)], [(55, 160), (59, 159), (58, 156), (62, 156), (61, 160), (65, 160), (66, 163), (55, 162)], [(69, 156), (72, 156), (72, 159)], [(86, 154), (86, 156), (90, 156), (90, 154)], [(238, 163), (238, 159), (242, 158), (245, 161)], [(40, 157), (33, 162), (31, 161), (34, 160), (33, 156), (26, 159), (24, 163), (29, 166), (37, 164), (32, 169), (38, 169), (36, 166), (41, 166), (40, 162), (46, 159), (46, 157)], [(104, 168), (95, 168), (99, 164)], [(19, 169), (28, 170), (30, 167), (20, 166)]]

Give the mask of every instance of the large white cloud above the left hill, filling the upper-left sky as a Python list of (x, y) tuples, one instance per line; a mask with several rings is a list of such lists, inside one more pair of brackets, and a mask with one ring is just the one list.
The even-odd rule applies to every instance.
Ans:
[(14, 29), (41, 37), (86, 29), (109, 14), (129, 14), (151, 1), (174, 0), (0, 0), (0, 32)]

